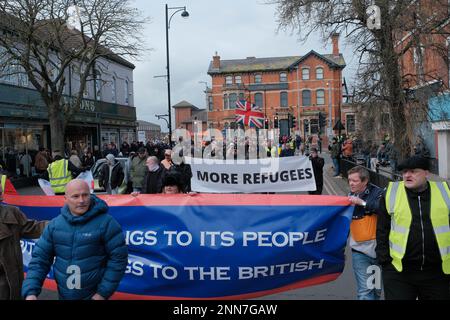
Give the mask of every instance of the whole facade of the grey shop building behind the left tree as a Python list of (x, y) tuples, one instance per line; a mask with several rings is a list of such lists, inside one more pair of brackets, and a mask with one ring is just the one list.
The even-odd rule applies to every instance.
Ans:
[[(87, 82), (81, 108), (66, 129), (67, 150), (101, 149), (110, 142), (119, 147), (136, 138), (134, 65), (120, 58), (101, 59), (98, 65), (96, 80)], [(40, 94), (26, 74), (5, 74), (0, 74), (0, 157), (5, 161), (8, 153), (50, 149), (48, 111)], [(67, 68), (66, 79), (64, 95), (70, 104), (79, 88), (75, 67)]]

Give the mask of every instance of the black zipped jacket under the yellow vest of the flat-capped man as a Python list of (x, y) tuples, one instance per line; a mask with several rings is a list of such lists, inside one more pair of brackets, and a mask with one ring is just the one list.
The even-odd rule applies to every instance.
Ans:
[[(406, 189), (412, 221), (406, 245), (406, 253), (402, 259), (404, 270), (442, 270), (441, 255), (431, 224), (431, 191), (428, 188), (420, 193)], [(385, 195), (380, 201), (380, 214), (377, 223), (378, 261), (388, 266), (392, 261), (389, 254), (389, 232), (391, 230), (391, 216), (386, 210)], [(420, 205), (419, 205), (420, 203)]]

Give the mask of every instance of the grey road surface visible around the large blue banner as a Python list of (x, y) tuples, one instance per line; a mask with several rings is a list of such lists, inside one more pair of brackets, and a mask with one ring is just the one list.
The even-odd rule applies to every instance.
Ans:
[[(324, 167), (324, 195), (346, 196), (349, 192), (347, 180), (344, 178), (333, 178), (332, 161), (328, 152), (320, 154), (325, 159)], [(18, 189), (19, 194), (23, 195), (44, 195), (39, 187), (25, 187)], [(301, 192), (299, 194), (305, 194)], [(278, 294), (268, 295), (257, 300), (352, 300), (356, 298), (356, 284), (352, 270), (351, 252), (346, 248), (346, 263), (341, 276), (329, 283), (291, 290)], [(56, 300), (56, 292), (43, 290), (39, 299)]]

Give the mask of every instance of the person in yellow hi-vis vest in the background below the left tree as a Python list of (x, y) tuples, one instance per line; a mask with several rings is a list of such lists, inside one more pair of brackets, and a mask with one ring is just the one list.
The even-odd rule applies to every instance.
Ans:
[(82, 171), (70, 160), (63, 158), (60, 151), (53, 152), (53, 159), (47, 168), (48, 180), (56, 195), (64, 195), (66, 185)]

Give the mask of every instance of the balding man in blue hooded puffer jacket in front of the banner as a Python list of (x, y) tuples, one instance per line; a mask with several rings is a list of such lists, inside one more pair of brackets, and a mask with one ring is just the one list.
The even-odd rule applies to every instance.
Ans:
[(55, 260), (53, 270), (60, 299), (108, 299), (128, 263), (122, 228), (107, 214), (108, 205), (91, 195), (82, 180), (67, 184), (65, 203), (33, 250), (22, 296), (37, 299)]

